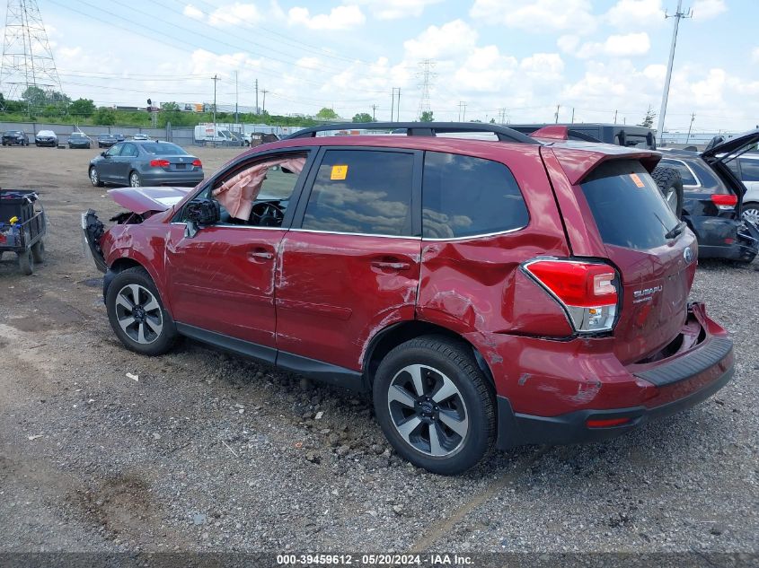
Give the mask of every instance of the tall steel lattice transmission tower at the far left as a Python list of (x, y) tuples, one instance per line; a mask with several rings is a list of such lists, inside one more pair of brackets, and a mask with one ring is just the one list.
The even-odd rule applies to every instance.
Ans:
[(37, 0), (8, 0), (0, 92), (13, 99), (29, 87), (61, 91), (60, 78)]

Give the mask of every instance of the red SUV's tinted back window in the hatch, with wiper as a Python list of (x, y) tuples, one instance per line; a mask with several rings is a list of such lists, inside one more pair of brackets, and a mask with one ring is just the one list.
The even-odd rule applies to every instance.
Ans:
[(580, 184), (601, 238), (626, 249), (654, 249), (677, 218), (657, 184), (636, 160), (605, 162)]

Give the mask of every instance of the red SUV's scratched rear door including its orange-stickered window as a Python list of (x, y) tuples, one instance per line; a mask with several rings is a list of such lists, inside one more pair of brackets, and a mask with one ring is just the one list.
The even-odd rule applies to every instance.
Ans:
[(376, 331), (414, 318), (421, 153), (322, 148), (279, 252), (277, 346), (351, 370)]

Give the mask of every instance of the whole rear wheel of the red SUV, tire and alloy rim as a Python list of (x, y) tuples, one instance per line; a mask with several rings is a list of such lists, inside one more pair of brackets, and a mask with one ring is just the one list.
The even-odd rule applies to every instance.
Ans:
[(419, 468), (461, 474), (493, 446), (494, 398), (461, 341), (422, 336), (398, 345), (380, 363), (373, 389), (385, 437)]

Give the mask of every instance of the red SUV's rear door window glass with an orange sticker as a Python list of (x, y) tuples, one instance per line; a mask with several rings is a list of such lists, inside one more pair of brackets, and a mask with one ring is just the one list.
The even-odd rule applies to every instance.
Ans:
[(411, 235), (414, 154), (328, 150), (313, 182), (303, 228)]

